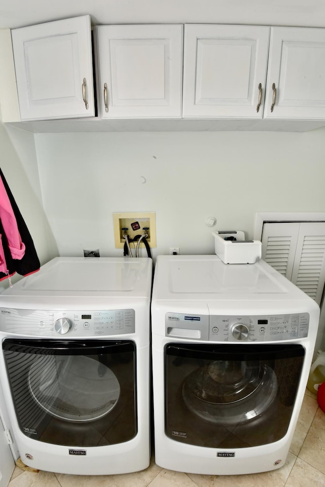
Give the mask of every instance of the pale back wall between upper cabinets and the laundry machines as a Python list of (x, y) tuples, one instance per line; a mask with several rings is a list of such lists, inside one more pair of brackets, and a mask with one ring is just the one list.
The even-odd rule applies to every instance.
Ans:
[[(305, 133), (36, 134), (44, 209), (60, 255), (121, 255), (113, 212), (156, 212), (153, 256), (214, 252), (215, 229), (251, 238), (256, 212), (321, 212), (325, 129)], [(145, 182), (144, 182), (145, 181)]]

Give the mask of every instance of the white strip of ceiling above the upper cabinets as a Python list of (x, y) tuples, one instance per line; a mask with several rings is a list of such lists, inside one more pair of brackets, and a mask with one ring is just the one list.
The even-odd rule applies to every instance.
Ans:
[(230, 23), (325, 26), (322, 0), (2, 0), (0, 28), (90, 14), (94, 24)]

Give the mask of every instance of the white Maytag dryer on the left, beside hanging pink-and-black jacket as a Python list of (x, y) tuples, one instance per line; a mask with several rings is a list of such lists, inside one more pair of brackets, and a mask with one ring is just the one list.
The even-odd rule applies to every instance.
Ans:
[(0, 378), (26, 465), (105, 475), (150, 461), (148, 258), (55, 258), (0, 295)]

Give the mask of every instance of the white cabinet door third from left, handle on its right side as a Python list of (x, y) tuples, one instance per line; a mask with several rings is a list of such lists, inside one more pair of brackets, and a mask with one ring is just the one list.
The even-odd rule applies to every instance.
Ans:
[(262, 118), (269, 33), (269, 27), (185, 25), (183, 117)]

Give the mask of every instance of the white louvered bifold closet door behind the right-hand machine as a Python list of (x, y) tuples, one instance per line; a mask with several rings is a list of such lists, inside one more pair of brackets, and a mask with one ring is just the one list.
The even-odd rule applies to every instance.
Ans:
[(262, 259), (320, 304), (325, 284), (325, 223), (265, 223)]

